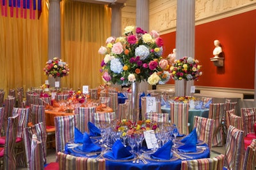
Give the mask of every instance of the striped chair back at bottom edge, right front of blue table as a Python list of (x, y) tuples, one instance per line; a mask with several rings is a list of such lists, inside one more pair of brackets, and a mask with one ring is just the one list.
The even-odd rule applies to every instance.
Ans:
[(224, 162), (224, 155), (218, 155), (214, 158), (204, 158), (204, 159), (193, 159), (193, 160), (182, 160), (181, 170), (222, 170)]

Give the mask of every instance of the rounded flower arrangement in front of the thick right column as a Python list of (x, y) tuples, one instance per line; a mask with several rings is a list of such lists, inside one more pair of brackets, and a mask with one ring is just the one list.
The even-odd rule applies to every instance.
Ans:
[(198, 60), (191, 57), (183, 57), (182, 59), (175, 60), (175, 64), (170, 67), (170, 76), (173, 80), (198, 80), (202, 75), (200, 71)]

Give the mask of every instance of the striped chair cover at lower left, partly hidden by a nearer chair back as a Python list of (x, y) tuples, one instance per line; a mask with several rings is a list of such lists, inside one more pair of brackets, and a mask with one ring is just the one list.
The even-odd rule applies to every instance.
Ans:
[[(44, 123), (40, 122), (38, 124), (35, 124), (31, 127), (25, 127), (24, 128), (24, 145), (25, 145), (25, 150), (26, 150), (26, 163), (28, 167), (31, 167), (31, 164), (33, 163), (33, 159), (31, 159), (31, 142), (33, 140), (33, 134), (36, 134), (36, 138), (38, 139), (38, 141), (42, 142), (42, 153), (43, 153), (43, 157), (40, 160), (43, 160), (41, 162), (43, 162), (44, 164), (46, 164), (46, 132), (45, 132), (45, 127), (44, 127)], [(31, 167), (31, 169), (33, 169)]]

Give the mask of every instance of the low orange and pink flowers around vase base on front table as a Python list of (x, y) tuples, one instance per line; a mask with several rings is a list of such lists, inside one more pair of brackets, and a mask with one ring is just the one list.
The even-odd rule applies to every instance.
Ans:
[(156, 130), (157, 129), (157, 124), (152, 123), (150, 120), (138, 120), (138, 122), (134, 123), (131, 120), (120, 120), (117, 122), (116, 131), (121, 131), (125, 133), (125, 135), (131, 135), (134, 133), (141, 133), (143, 131), (148, 131), (148, 130)]

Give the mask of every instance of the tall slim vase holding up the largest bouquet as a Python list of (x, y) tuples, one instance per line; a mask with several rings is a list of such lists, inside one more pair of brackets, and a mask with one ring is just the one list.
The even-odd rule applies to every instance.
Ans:
[(138, 82), (132, 82), (132, 120), (137, 122), (139, 120), (139, 107), (138, 107)]

